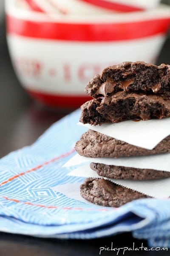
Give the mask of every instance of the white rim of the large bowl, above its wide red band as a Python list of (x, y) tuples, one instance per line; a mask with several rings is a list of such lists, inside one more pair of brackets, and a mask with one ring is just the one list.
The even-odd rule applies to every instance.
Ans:
[(167, 19), (170, 18), (170, 6), (160, 4), (155, 9), (148, 9), (138, 12), (125, 12), (99, 15), (63, 15), (45, 14), (34, 12), (28, 9), (18, 8), (17, 0), (5, 1), (6, 15), (19, 18), (21, 20), (31, 20), (38, 22), (62, 22), (62, 23), (127, 23), (129, 21), (138, 22), (142, 20)]

